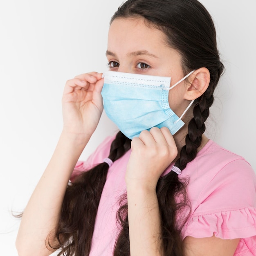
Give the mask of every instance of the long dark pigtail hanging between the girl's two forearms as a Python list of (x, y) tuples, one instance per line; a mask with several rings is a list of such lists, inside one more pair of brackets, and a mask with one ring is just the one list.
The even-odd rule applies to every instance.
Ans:
[[(112, 141), (109, 158), (115, 161), (129, 149), (130, 139), (118, 132), (115, 140)], [(62, 248), (58, 256), (89, 255), (94, 223), (108, 168), (105, 162), (98, 164), (78, 175), (74, 182), (67, 186), (56, 227), (58, 245), (49, 244), (53, 249)]]

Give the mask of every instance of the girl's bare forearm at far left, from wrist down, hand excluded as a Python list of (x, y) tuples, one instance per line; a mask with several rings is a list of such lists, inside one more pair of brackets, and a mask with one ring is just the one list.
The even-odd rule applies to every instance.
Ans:
[(52, 159), (24, 210), (16, 239), (19, 256), (44, 256), (53, 252), (47, 249), (46, 238), (53, 231), (49, 236), (53, 243), (67, 183), (83, 148), (84, 143), (65, 132), (61, 134)]

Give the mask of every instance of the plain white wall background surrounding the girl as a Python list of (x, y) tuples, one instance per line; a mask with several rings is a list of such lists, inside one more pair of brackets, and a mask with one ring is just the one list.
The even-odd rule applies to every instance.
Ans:
[[(208, 137), (256, 170), (255, 0), (202, 0), (216, 24), (226, 72), (216, 90)], [(16, 256), (22, 211), (62, 128), (67, 79), (106, 67), (109, 20), (122, 0), (0, 2), (0, 248)], [(103, 114), (81, 159), (116, 127)], [(241, 177), (243, 170), (241, 170)]]

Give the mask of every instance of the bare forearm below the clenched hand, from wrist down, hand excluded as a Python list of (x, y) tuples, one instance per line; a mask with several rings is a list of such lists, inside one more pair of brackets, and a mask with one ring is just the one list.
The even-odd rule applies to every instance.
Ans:
[(130, 255), (163, 255), (160, 246), (161, 217), (156, 192), (150, 188), (127, 187)]

